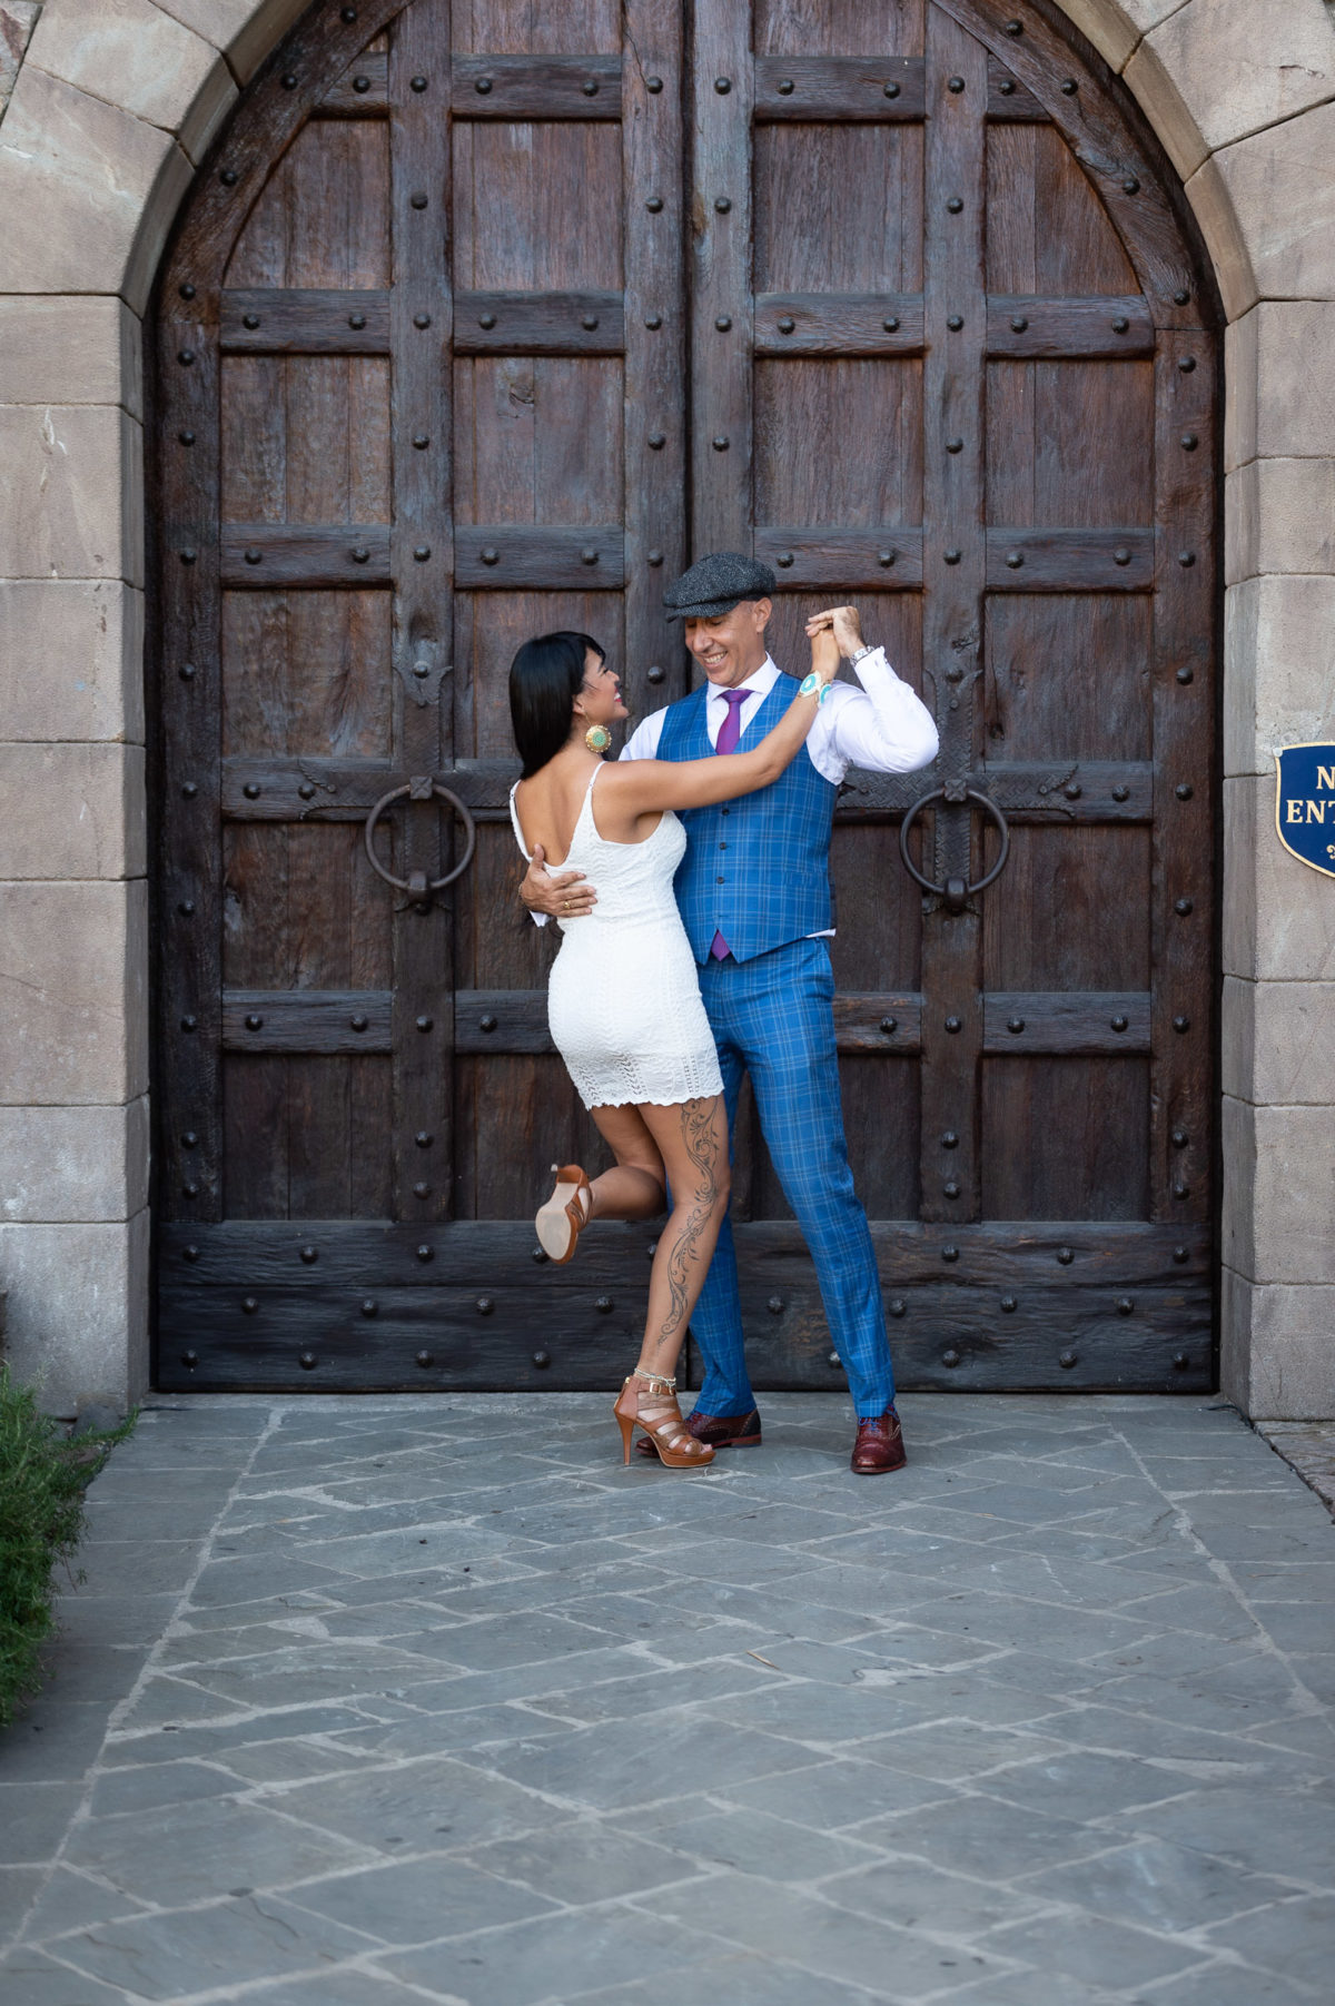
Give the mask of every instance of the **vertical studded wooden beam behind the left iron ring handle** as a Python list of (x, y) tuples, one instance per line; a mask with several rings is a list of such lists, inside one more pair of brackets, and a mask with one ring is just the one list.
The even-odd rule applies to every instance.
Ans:
[[(393, 716), (395, 764), (409, 778), (453, 756), (453, 534), (449, 437), (449, 6), (409, 6), (391, 28), (391, 369), (393, 369)], [(425, 437), (425, 445), (417, 441)], [(417, 662), (425, 678), (413, 676)], [(429, 702), (419, 696), (429, 694)], [(455, 849), (441, 808), (405, 804), (399, 877), (441, 877)], [(387, 893), (389, 895), (389, 893)], [(451, 895), (395, 909), (395, 1218), (441, 1220), (453, 1194)], [(419, 1131), (435, 1139), (419, 1149)]]

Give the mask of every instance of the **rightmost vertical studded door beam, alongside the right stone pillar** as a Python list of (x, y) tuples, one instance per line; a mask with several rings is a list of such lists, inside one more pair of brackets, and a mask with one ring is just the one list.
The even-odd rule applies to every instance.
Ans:
[(1215, 341), (1155, 357), (1151, 1218), (1209, 1220), (1215, 1049)]

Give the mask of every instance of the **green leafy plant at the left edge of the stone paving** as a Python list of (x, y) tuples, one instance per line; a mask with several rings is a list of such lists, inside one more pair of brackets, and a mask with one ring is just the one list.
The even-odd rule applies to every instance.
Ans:
[(118, 1428), (70, 1440), (0, 1366), (0, 1727), (42, 1683), (56, 1569), (70, 1585), (84, 1579), (70, 1565), (84, 1533), (84, 1490), (134, 1420), (128, 1414)]

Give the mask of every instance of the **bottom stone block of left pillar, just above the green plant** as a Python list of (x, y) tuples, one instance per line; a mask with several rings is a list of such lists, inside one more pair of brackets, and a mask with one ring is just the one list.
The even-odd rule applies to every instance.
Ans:
[(52, 1414), (124, 1412), (148, 1386), (148, 1214), (116, 1226), (0, 1226), (6, 1356)]

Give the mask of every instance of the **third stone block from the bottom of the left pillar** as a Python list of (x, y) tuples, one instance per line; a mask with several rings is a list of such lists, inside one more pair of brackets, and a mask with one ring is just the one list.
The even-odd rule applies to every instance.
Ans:
[(0, 1105), (148, 1089), (148, 899), (120, 885), (0, 885)]

